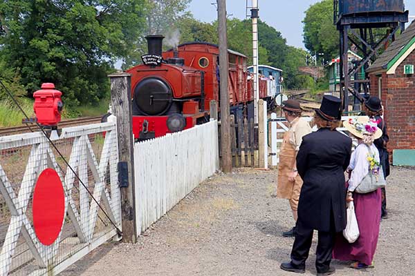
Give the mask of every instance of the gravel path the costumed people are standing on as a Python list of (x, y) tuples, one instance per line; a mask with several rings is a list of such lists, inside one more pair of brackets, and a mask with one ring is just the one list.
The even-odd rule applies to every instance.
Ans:
[[(238, 170), (196, 188), (138, 244), (107, 244), (61, 275), (295, 275), (289, 260), (293, 226), (288, 201), (276, 199), (275, 171)], [(389, 219), (381, 223), (374, 269), (334, 261), (335, 275), (415, 275), (415, 169), (394, 168), (388, 178)], [(317, 235), (315, 235), (316, 237)], [(306, 274), (315, 275), (315, 241)]]

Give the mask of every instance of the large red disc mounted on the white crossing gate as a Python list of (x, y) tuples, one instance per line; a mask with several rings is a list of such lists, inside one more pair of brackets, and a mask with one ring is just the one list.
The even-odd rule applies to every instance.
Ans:
[(33, 228), (39, 242), (53, 244), (64, 224), (65, 193), (57, 172), (46, 168), (37, 179), (33, 192)]

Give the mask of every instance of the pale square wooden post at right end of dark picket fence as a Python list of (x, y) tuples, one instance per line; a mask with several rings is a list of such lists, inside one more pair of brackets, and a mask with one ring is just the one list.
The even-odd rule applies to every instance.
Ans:
[(268, 118), (266, 103), (258, 101), (258, 146), (259, 146), (259, 168), (268, 168)]

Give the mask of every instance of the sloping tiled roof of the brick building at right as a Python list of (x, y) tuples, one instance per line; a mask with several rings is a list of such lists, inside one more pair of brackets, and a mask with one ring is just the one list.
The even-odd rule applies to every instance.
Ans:
[(392, 42), (387, 50), (382, 53), (376, 59), (376, 61), (367, 68), (367, 72), (376, 72), (381, 70), (387, 70), (387, 65), (391, 62), (396, 56), (399, 55), (400, 51), (407, 46), (407, 44), (415, 37), (415, 20), (409, 25), (409, 27), (403, 31), (402, 34)]

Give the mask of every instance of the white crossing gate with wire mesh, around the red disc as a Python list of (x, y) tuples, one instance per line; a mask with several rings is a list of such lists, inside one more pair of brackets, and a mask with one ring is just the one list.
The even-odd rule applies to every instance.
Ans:
[[(52, 139), (57, 149), (42, 132), (0, 137), (1, 276), (55, 275), (118, 237), (121, 210), (115, 124), (66, 128)], [(64, 193), (62, 226), (50, 244), (39, 240), (40, 230), (33, 224), (35, 184), (46, 168), (57, 172)], [(47, 196), (53, 200), (56, 195)]]

